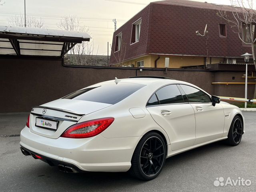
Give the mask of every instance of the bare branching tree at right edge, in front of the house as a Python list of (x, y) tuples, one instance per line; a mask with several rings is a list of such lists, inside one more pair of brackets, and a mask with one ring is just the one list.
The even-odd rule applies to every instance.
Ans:
[[(243, 44), (249, 44), (252, 48), (253, 63), (256, 69), (254, 43), (256, 42), (256, 11), (253, 9), (253, 0), (230, 0), (232, 12), (219, 10), (217, 15), (231, 26)], [(256, 85), (254, 89), (256, 98)]]

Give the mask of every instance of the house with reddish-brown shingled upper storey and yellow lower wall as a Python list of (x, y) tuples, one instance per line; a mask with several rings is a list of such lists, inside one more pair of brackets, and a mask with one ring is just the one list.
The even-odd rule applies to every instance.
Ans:
[(151, 2), (114, 32), (110, 64), (163, 68), (168, 57), (169, 68), (205, 66), (206, 37), (196, 31), (203, 33), (206, 24), (208, 64), (243, 63), (240, 55), (251, 48), (216, 15), (218, 10), (231, 13), (232, 7), (189, 0)]

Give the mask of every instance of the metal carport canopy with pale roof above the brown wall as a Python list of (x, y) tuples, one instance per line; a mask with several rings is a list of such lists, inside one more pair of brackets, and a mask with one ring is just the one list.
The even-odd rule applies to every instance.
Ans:
[(0, 56), (63, 58), (90, 38), (85, 32), (0, 25)]

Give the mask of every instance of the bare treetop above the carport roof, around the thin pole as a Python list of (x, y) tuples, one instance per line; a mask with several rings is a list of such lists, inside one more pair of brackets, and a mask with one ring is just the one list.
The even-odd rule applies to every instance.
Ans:
[[(25, 18), (23, 15), (12, 16), (8, 23), (12, 26), (24, 27), (24, 20)], [(45, 28), (44, 20), (42, 20), (42, 18), (36, 19), (32, 16), (26, 16), (26, 26), (32, 28)]]

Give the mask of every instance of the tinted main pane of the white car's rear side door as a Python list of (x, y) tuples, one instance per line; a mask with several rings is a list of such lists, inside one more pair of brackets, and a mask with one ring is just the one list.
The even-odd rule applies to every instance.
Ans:
[(177, 85), (168, 85), (156, 92), (160, 104), (183, 103), (184, 100)]

